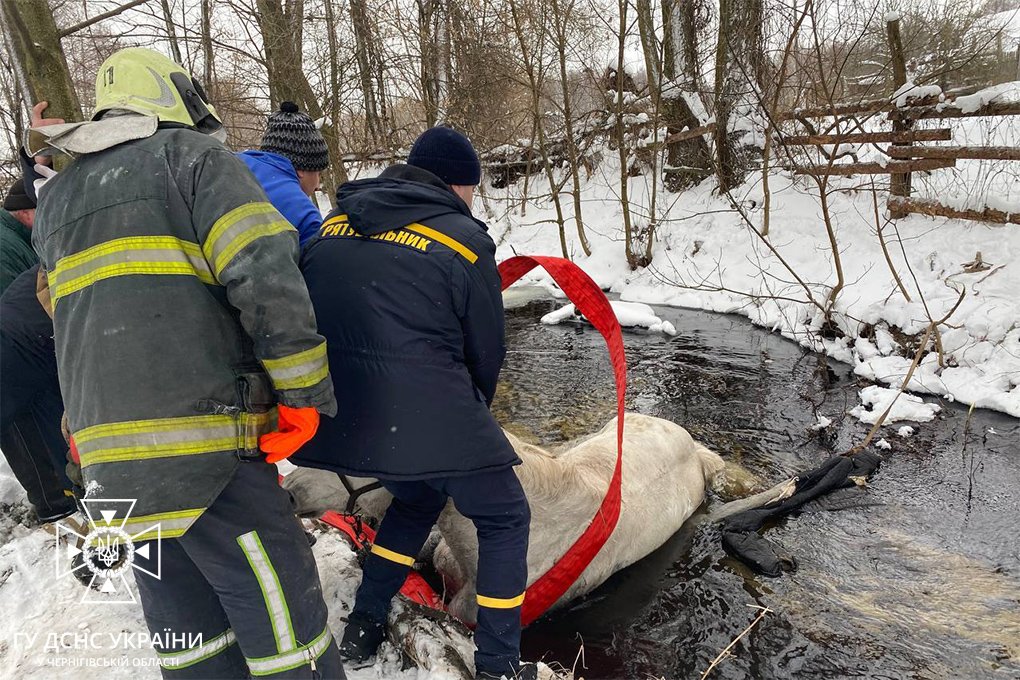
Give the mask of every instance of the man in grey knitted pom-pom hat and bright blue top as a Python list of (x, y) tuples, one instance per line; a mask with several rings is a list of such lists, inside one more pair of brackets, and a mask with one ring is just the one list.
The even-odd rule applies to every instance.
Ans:
[(297, 104), (284, 102), (269, 116), (259, 151), (245, 151), (240, 156), (272, 207), (298, 230), (304, 246), (322, 225), (322, 214), (312, 197), (322, 170), (329, 166), (325, 140), (315, 123)]

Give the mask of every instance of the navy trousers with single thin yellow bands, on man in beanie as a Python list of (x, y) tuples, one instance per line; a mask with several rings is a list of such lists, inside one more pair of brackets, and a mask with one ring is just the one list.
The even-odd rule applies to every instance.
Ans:
[(400, 590), (446, 507), (474, 523), (478, 535), (478, 620), (474, 631), (477, 671), (513, 677), (520, 662), (520, 606), (527, 585), (527, 537), (531, 515), (512, 468), (462, 477), (384, 481), (393, 493), (375, 544), (365, 561), (354, 611), (385, 623)]

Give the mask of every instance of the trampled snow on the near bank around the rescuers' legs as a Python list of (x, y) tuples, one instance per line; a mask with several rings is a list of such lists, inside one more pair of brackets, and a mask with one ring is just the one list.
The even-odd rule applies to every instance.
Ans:
[[(57, 577), (56, 540), (18, 520), (28, 515), (24, 493), (0, 459), (0, 680), (159, 678), (147, 629), (137, 604), (82, 604), (85, 588), (71, 576)], [(329, 625), (342, 635), (345, 617), (361, 581), (355, 554), (336, 533), (317, 533), (312, 547)], [(51, 635), (55, 637), (50, 637)], [(47, 648), (49, 647), (49, 648)], [(401, 670), (399, 651), (387, 643), (372, 667), (348, 671), (350, 680), (449, 680), (457, 677)]]

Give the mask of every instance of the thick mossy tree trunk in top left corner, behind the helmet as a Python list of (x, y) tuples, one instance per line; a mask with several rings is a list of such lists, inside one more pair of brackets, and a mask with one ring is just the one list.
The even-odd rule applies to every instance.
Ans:
[(46, 2), (0, 0), (3, 32), (26, 103), (50, 103), (46, 115), (82, 120), (82, 104)]

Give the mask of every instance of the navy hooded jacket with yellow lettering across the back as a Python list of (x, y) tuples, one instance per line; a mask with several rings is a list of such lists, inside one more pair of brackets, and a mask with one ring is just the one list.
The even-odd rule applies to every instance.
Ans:
[(486, 225), (407, 165), (337, 200), (301, 269), (339, 410), (292, 460), (389, 480), (519, 463), (489, 412), (506, 348)]

